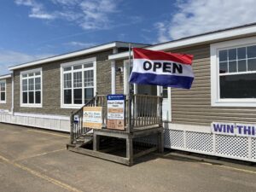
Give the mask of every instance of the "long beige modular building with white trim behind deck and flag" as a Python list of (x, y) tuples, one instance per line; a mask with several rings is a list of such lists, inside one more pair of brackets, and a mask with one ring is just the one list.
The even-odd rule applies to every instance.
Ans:
[[(132, 86), (137, 94), (163, 94), (165, 147), (256, 162), (256, 24), (146, 49), (194, 55), (190, 90)], [(128, 59), (128, 44), (115, 42), (9, 67), (13, 114), (2, 114), (2, 122), (69, 131), (70, 113), (96, 92), (128, 93)]]

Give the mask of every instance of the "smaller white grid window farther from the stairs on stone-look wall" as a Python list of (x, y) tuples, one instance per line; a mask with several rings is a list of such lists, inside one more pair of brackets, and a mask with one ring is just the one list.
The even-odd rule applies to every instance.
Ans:
[(20, 73), (21, 107), (42, 107), (42, 69)]

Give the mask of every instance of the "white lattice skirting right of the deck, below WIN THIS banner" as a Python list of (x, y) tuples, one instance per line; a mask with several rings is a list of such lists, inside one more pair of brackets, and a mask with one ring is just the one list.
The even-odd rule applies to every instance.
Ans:
[(212, 133), (211, 127), (165, 124), (165, 148), (256, 162), (256, 137)]

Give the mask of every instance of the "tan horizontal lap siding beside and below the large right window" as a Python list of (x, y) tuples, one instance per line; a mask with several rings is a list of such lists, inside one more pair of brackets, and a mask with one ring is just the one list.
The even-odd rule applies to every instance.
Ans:
[(172, 88), (172, 123), (211, 125), (212, 121), (256, 122), (256, 108), (211, 106), (210, 44), (172, 52), (194, 55), (195, 80), (190, 90)]

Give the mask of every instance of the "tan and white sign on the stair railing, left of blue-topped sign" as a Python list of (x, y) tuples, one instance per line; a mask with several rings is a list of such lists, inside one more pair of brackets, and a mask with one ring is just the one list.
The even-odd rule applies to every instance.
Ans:
[(102, 129), (102, 107), (84, 107), (83, 113), (84, 127)]

